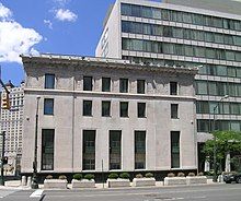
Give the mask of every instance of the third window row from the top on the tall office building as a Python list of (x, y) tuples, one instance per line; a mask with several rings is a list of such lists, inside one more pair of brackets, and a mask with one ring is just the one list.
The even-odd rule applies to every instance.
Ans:
[(240, 51), (184, 45), (184, 44), (162, 43), (154, 40), (122, 38), (122, 48), (124, 50), (134, 50), (134, 51), (146, 51), (146, 52), (188, 56), (188, 57), (218, 59), (218, 60), (241, 61)]

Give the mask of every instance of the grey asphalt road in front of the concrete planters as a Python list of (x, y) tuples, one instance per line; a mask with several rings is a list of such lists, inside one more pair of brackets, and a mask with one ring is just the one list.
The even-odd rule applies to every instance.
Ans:
[[(0, 194), (2, 190), (0, 190)], [(241, 201), (241, 185), (159, 187), (93, 190), (45, 190), (30, 198), (34, 190), (11, 192), (0, 201)]]

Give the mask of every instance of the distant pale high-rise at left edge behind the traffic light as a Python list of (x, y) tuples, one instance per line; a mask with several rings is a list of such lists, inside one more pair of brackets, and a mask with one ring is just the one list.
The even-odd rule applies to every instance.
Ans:
[[(10, 110), (1, 109), (1, 132), (5, 131), (4, 155), (8, 156), (7, 169), (12, 173), (20, 172), (20, 161), (22, 156), (22, 135), (23, 135), (23, 99), (24, 82), (20, 86), (14, 86), (11, 82), (5, 84), (10, 94)], [(5, 91), (2, 88), (1, 97)], [(2, 103), (2, 102), (1, 102)], [(2, 140), (2, 138), (1, 138)], [(0, 142), (2, 147), (2, 141)], [(1, 152), (0, 147), (0, 152)]]

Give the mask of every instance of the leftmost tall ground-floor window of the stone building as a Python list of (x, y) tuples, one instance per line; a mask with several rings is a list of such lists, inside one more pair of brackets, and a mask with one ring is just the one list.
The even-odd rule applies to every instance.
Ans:
[(42, 130), (42, 170), (54, 170), (55, 130)]

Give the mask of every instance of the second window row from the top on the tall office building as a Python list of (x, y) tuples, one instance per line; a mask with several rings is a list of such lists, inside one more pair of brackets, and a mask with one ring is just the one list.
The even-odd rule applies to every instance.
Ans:
[(122, 32), (241, 46), (241, 37), (183, 27), (122, 21)]

